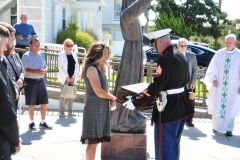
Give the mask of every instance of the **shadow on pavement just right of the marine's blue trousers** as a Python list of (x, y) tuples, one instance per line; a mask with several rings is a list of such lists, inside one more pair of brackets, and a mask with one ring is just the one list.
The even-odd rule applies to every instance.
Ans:
[(196, 127), (188, 127), (188, 129), (183, 129), (182, 136), (189, 137), (191, 140), (200, 140), (200, 137), (207, 137), (207, 134)]

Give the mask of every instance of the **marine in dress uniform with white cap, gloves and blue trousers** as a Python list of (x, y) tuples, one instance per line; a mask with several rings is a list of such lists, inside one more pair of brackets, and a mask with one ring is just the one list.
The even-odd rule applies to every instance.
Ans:
[[(178, 160), (180, 139), (186, 118), (194, 113), (184, 87), (189, 83), (188, 64), (172, 44), (169, 36), (171, 29), (148, 33), (154, 49), (159, 53), (153, 83), (143, 92), (129, 96), (123, 105), (135, 109), (146, 104), (162, 92), (163, 105), (155, 104), (152, 112), (154, 123), (155, 159)], [(163, 95), (166, 95), (164, 98)], [(164, 107), (164, 110), (160, 109)]]

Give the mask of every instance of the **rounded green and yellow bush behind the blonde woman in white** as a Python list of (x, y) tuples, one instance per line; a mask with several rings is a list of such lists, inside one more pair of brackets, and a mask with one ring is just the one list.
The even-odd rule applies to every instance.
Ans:
[(70, 38), (78, 47), (84, 47), (88, 50), (93, 42), (96, 40), (89, 33), (76, 30), (63, 30), (57, 35), (57, 43), (63, 44), (65, 39)]

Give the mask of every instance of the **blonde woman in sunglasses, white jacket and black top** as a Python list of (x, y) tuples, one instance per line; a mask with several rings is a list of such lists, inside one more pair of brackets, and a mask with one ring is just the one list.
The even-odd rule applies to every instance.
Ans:
[[(59, 85), (62, 91), (65, 83), (75, 85), (77, 82), (77, 75), (79, 72), (78, 57), (73, 52), (74, 42), (71, 39), (66, 39), (63, 42), (64, 50), (58, 57), (58, 70), (59, 70)], [(73, 98), (63, 98), (60, 96), (59, 116), (65, 117), (65, 106), (68, 108), (68, 116), (75, 116), (72, 112)]]

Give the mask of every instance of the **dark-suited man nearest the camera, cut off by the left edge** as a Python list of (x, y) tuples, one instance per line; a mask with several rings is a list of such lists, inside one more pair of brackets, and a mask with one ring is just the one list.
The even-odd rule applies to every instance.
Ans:
[(11, 155), (21, 149), (17, 116), (12, 103), (14, 94), (11, 94), (14, 92), (14, 86), (6, 72), (3, 58), (9, 36), (8, 29), (0, 25), (0, 160), (11, 160)]

